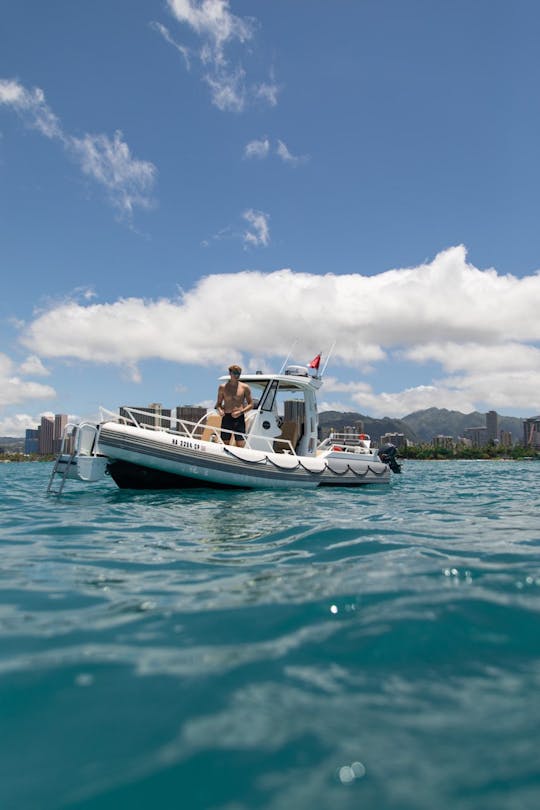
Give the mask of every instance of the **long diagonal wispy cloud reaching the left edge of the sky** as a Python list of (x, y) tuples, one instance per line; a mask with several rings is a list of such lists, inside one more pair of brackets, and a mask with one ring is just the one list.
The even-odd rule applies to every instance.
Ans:
[(153, 163), (135, 159), (120, 131), (75, 137), (64, 132), (40, 88), (27, 90), (15, 80), (0, 80), (0, 104), (20, 115), (25, 124), (59, 141), (82, 172), (101, 185), (111, 204), (126, 219), (135, 207), (149, 208), (157, 170)]

